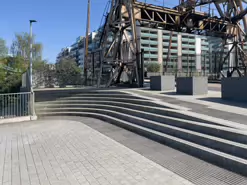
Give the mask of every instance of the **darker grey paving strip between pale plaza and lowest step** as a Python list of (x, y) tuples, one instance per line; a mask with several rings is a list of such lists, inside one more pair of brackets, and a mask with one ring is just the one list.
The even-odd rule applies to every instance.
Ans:
[[(52, 118), (49, 118), (52, 119)], [(57, 118), (54, 118), (57, 119)], [(187, 155), (183, 152), (174, 150), (170, 147), (162, 145), (152, 140), (148, 140), (139, 135), (129, 137), (130, 131), (124, 130), (115, 125), (103, 122), (101, 120), (93, 118), (82, 118), (82, 117), (60, 117), (59, 119), (69, 119), (76, 121), (83, 121), (86, 125), (98, 130), (109, 138), (123, 144), (126, 147), (134, 150), (149, 158), (150, 160), (163, 166), (163, 170), (167, 170), (167, 174), (178, 174), (187, 179), (190, 182), (197, 185), (244, 185), (247, 184), (247, 178), (225, 169), (219, 168), (205, 161)], [(109, 130), (105, 128), (112, 127)], [(104, 128), (101, 130), (101, 128)], [(116, 134), (117, 133), (117, 134)], [(118, 134), (121, 133), (118, 139)], [(132, 133), (133, 134), (133, 133)], [(126, 135), (125, 138), (123, 135)], [(134, 138), (134, 139), (133, 139)], [(137, 139), (138, 138), (138, 139)], [(144, 142), (145, 141), (145, 142)], [(136, 173), (133, 169), (129, 169), (129, 172), (133, 175)], [(170, 173), (169, 173), (170, 172)], [(113, 172), (116, 173), (116, 172)], [(148, 173), (148, 172), (147, 172)], [(186, 184), (188, 181), (182, 181)], [(190, 184), (190, 182), (188, 182)], [(140, 182), (139, 182), (140, 183)], [(153, 184), (153, 183), (152, 183)], [(169, 184), (169, 183), (167, 183)]]

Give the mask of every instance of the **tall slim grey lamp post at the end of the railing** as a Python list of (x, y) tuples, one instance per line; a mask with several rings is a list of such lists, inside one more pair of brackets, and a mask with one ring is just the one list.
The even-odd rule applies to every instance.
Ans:
[(34, 92), (33, 92), (33, 33), (32, 33), (32, 23), (37, 22), (36, 20), (29, 20), (30, 22), (30, 67), (29, 67), (29, 77), (30, 77), (30, 109), (31, 109), (31, 119), (37, 119), (34, 110)]

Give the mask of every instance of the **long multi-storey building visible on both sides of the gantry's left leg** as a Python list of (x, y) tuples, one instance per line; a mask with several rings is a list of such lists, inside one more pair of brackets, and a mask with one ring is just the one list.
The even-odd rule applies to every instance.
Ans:
[[(220, 68), (219, 63), (224, 60), (227, 52), (231, 49), (231, 45), (223, 48), (223, 41), (218, 37), (148, 27), (137, 27), (137, 36), (140, 40), (139, 48), (144, 51), (144, 63), (158, 62), (163, 65), (163, 71), (172, 73), (176, 71), (184, 73), (216, 73)], [(89, 53), (97, 50), (99, 37), (100, 34), (98, 32), (90, 33)], [(108, 40), (111, 40), (111, 38)], [(247, 48), (246, 44), (245, 48)], [(99, 58), (98, 55), (99, 53), (95, 54), (93, 58)], [(78, 37), (74, 44), (63, 49), (59, 53), (57, 60), (64, 57), (75, 59), (78, 65), (84, 69), (85, 37)], [(127, 56), (126, 58), (129, 57)], [(228, 60), (234, 61), (234, 59), (235, 54), (233, 52), (229, 55)], [(90, 66), (92, 66), (90, 64), (91, 60), (92, 57), (89, 55)], [(227, 63), (225, 64), (226, 67)]]

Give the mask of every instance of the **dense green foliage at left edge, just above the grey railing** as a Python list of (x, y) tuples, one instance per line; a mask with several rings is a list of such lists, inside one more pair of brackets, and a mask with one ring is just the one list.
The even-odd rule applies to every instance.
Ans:
[[(0, 93), (19, 92), (22, 73), (27, 69), (27, 63), (22, 57), (5, 57), (0, 60)], [(13, 70), (6, 70), (8, 66)]]

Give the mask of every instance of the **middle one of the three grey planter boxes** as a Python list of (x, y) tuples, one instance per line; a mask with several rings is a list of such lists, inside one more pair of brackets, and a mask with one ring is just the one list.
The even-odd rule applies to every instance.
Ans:
[(177, 94), (203, 95), (208, 93), (207, 77), (178, 77)]

